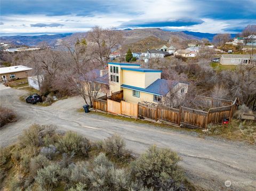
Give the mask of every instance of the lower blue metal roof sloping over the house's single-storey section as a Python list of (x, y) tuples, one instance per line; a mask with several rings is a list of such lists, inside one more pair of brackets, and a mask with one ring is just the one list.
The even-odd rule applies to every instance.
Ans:
[(168, 81), (165, 79), (157, 79), (152, 84), (150, 84), (147, 88), (139, 88), (135, 86), (129, 86), (129, 85), (121, 85), (122, 88), (137, 90), (139, 92), (145, 92), (149, 94), (155, 94), (155, 95), (161, 95), (164, 96), (168, 92), (170, 92), (170, 89), (173, 88), (175, 85), (177, 85), (178, 81)]

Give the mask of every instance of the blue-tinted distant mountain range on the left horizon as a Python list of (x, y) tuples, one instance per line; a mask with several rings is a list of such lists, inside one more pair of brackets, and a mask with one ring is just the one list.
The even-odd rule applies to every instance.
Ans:
[(38, 43), (45, 42), (49, 45), (54, 45), (57, 43), (58, 39), (72, 35), (68, 34), (57, 34), (57, 35), (38, 35), (38, 36), (2, 36), (0, 41), (8, 44), (14, 45), (27, 45), (36, 46)]

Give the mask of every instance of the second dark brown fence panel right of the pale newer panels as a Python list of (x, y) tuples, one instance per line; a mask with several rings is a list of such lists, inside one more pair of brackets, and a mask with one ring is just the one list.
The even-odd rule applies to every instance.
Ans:
[(180, 110), (172, 107), (158, 106), (158, 119), (179, 124)]

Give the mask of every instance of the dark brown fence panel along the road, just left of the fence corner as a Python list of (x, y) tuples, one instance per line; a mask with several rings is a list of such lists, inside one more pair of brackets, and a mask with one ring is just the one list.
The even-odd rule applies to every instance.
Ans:
[(181, 121), (188, 127), (205, 128), (207, 112), (181, 107)]

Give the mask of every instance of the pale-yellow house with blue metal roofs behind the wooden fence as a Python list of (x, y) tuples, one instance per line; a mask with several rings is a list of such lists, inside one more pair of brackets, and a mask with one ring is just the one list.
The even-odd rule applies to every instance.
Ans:
[(140, 64), (108, 63), (110, 92), (123, 90), (126, 102), (164, 103), (165, 97), (175, 91), (177, 96), (188, 92), (184, 82), (161, 79), (161, 70), (140, 68)]

